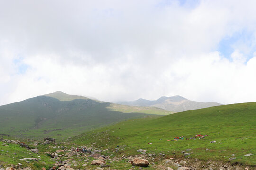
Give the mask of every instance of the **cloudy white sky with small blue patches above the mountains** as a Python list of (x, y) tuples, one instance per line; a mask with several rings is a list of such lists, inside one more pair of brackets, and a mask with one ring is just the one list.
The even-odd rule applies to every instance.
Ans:
[(0, 105), (256, 102), (255, 0), (0, 0)]

